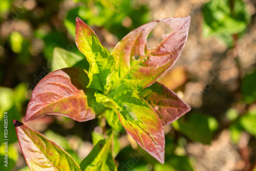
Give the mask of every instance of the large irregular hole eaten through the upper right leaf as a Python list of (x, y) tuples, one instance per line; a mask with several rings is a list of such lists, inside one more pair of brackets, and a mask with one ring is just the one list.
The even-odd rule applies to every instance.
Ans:
[(174, 30), (164, 22), (157, 23), (157, 26), (150, 32), (146, 40), (146, 47), (148, 49), (155, 48), (163, 40), (164, 34), (170, 34)]

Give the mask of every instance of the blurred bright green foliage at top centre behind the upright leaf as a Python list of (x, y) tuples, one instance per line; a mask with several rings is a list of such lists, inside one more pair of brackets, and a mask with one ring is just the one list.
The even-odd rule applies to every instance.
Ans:
[(136, 4), (136, 1), (80, 2), (83, 4), (71, 9), (64, 20), (66, 28), (73, 37), (75, 37), (76, 17), (81, 18), (89, 26), (104, 27), (119, 40), (142, 23), (149, 22), (148, 9), (146, 6)]

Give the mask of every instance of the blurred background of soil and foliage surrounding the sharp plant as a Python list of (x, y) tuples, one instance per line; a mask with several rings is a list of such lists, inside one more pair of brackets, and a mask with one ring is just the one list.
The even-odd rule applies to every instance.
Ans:
[[(20, 151), (13, 119), (24, 122), (33, 88), (52, 71), (52, 53), (76, 48), (80, 17), (110, 51), (133, 29), (166, 17), (191, 16), (184, 50), (159, 82), (176, 92), (191, 111), (164, 127), (165, 164), (150, 155), (132, 158), (139, 147), (115, 132), (119, 170), (256, 170), (256, 1), (255, 0), (1, 0), (0, 1), (0, 158), (3, 115), (9, 116), (9, 167), (29, 170)], [(153, 48), (157, 25), (147, 39)], [(109, 129), (103, 117), (76, 122), (46, 116), (26, 123), (55, 141), (80, 163)], [(81, 131), (84, 130), (84, 131)], [(1, 162), (2, 163), (2, 162)]]

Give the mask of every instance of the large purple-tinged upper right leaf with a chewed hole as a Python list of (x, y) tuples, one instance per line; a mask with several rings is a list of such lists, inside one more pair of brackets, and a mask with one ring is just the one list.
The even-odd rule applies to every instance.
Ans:
[[(173, 28), (164, 34), (162, 42), (153, 49), (146, 47), (147, 35), (159, 22)], [(159, 76), (174, 65), (185, 45), (190, 17), (165, 18), (147, 23), (131, 31), (118, 42), (112, 55), (118, 69), (113, 75), (113, 90), (119, 82), (126, 82), (138, 91), (150, 86)]]

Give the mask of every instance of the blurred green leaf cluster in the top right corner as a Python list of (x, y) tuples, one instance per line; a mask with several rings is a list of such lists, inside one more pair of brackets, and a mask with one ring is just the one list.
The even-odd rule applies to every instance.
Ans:
[(204, 36), (240, 33), (250, 21), (243, 0), (212, 0), (204, 5), (203, 15)]

